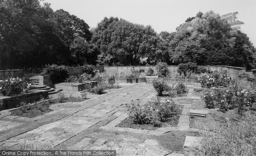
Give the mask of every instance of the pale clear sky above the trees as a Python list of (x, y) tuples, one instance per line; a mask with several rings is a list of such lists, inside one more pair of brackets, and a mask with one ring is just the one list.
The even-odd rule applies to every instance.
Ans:
[(64, 9), (94, 28), (104, 17), (118, 17), (132, 23), (151, 25), (160, 33), (175, 32), (177, 26), (199, 11), (220, 15), (238, 12), (241, 31), (256, 46), (256, 0), (44, 0), (53, 11)]

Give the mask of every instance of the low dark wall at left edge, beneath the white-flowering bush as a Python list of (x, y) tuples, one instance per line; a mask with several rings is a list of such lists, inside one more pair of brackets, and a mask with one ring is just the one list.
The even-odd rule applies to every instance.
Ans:
[(19, 106), (20, 102), (31, 103), (33, 101), (38, 101), (40, 98), (48, 98), (48, 91), (44, 90), (34, 90), (32, 93), (17, 95), (17, 96), (0, 96), (0, 110), (7, 110), (11, 108), (16, 108)]

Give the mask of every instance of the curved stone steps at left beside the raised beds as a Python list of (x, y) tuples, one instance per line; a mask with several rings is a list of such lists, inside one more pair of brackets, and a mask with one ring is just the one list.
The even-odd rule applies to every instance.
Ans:
[(29, 78), (29, 82), (32, 84), (31, 85), (32, 90), (47, 90), (49, 95), (56, 94), (62, 91), (61, 89), (55, 90), (54, 88), (48, 87), (46, 85), (40, 85), (39, 79), (36, 79), (36, 78)]

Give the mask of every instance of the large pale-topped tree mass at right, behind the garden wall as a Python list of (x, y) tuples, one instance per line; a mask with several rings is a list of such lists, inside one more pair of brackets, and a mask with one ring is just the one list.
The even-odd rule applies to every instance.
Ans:
[(172, 62), (253, 68), (256, 51), (249, 38), (240, 31), (231, 33), (218, 16), (212, 11), (199, 12), (180, 25), (169, 44)]

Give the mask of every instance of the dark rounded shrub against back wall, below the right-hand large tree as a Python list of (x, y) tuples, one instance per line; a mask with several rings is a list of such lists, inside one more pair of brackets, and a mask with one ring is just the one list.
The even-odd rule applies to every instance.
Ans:
[(179, 64), (177, 72), (179, 72), (180, 75), (183, 73), (185, 76), (187, 75), (187, 72), (198, 73), (198, 66), (192, 62), (188, 62), (186, 64)]

